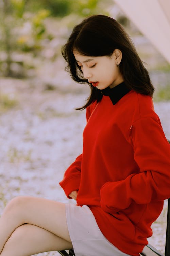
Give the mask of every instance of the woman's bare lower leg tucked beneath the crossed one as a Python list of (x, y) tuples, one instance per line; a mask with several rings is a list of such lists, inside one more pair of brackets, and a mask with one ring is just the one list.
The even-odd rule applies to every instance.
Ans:
[(60, 251), (72, 248), (72, 244), (49, 231), (31, 224), (25, 224), (12, 233), (1, 256), (29, 256), (41, 252)]

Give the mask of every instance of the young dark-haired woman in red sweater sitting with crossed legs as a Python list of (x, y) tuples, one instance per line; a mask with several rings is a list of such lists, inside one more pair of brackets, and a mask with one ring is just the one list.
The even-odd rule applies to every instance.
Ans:
[(74, 248), (77, 256), (137, 256), (170, 197), (170, 146), (154, 112), (151, 84), (116, 20), (75, 26), (62, 54), (88, 83), (83, 152), (60, 185), (75, 204), (16, 197), (0, 219), (1, 256)]

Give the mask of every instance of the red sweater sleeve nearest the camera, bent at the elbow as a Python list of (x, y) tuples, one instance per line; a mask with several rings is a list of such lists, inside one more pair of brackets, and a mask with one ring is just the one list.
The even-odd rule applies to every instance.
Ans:
[(109, 213), (126, 209), (133, 201), (147, 204), (170, 197), (170, 145), (158, 116), (134, 122), (131, 140), (140, 172), (103, 185), (101, 207)]

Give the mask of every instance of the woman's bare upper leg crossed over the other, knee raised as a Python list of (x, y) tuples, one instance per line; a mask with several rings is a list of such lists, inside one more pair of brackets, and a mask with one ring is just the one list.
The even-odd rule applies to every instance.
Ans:
[(25, 223), (46, 229), (71, 243), (64, 203), (38, 197), (15, 197), (0, 218), (0, 252), (14, 230)]

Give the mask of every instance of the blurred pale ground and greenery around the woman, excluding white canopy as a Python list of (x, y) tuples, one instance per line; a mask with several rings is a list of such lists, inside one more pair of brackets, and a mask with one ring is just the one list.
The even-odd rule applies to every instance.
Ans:
[[(61, 46), (73, 26), (92, 14), (115, 18), (129, 33), (150, 73), (155, 111), (170, 139), (170, 64), (116, 2), (0, 0), (0, 214), (18, 195), (68, 202), (58, 183), (82, 151), (85, 111), (74, 109), (85, 103), (89, 88), (64, 71)], [(163, 253), (166, 211), (167, 201), (149, 240)]]

